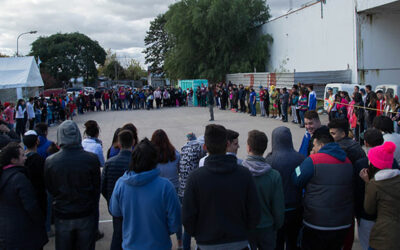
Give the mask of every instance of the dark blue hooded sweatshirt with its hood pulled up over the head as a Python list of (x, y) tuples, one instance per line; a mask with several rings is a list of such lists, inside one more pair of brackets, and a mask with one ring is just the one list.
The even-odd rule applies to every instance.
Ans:
[(289, 128), (282, 126), (272, 131), (272, 152), (266, 160), (281, 174), (287, 211), (301, 207), (301, 189), (292, 182), (292, 173), (304, 159), (304, 155), (293, 148), (292, 133)]

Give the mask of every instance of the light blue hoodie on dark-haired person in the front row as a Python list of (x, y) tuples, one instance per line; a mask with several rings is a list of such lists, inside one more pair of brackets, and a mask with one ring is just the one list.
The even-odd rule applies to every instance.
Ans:
[(181, 207), (174, 186), (160, 170), (127, 171), (118, 179), (110, 200), (114, 217), (123, 218), (123, 249), (171, 249), (178, 232)]

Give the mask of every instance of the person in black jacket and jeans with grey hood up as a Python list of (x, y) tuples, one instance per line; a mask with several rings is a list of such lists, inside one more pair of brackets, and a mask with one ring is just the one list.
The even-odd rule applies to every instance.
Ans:
[(54, 199), (56, 249), (94, 249), (100, 198), (100, 162), (83, 150), (78, 125), (57, 129), (60, 151), (45, 163), (46, 187)]

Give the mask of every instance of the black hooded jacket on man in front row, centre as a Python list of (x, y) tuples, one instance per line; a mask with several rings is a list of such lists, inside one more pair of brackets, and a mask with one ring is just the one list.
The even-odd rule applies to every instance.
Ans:
[(250, 171), (233, 155), (209, 155), (188, 179), (182, 207), (185, 230), (198, 244), (247, 240), (260, 219), (260, 203)]

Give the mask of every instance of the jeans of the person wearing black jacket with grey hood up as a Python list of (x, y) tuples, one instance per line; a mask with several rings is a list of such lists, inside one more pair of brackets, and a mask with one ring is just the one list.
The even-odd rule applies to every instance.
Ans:
[(56, 218), (56, 250), (94, 250), (97, 221), (95, 214), (63, 220)]

